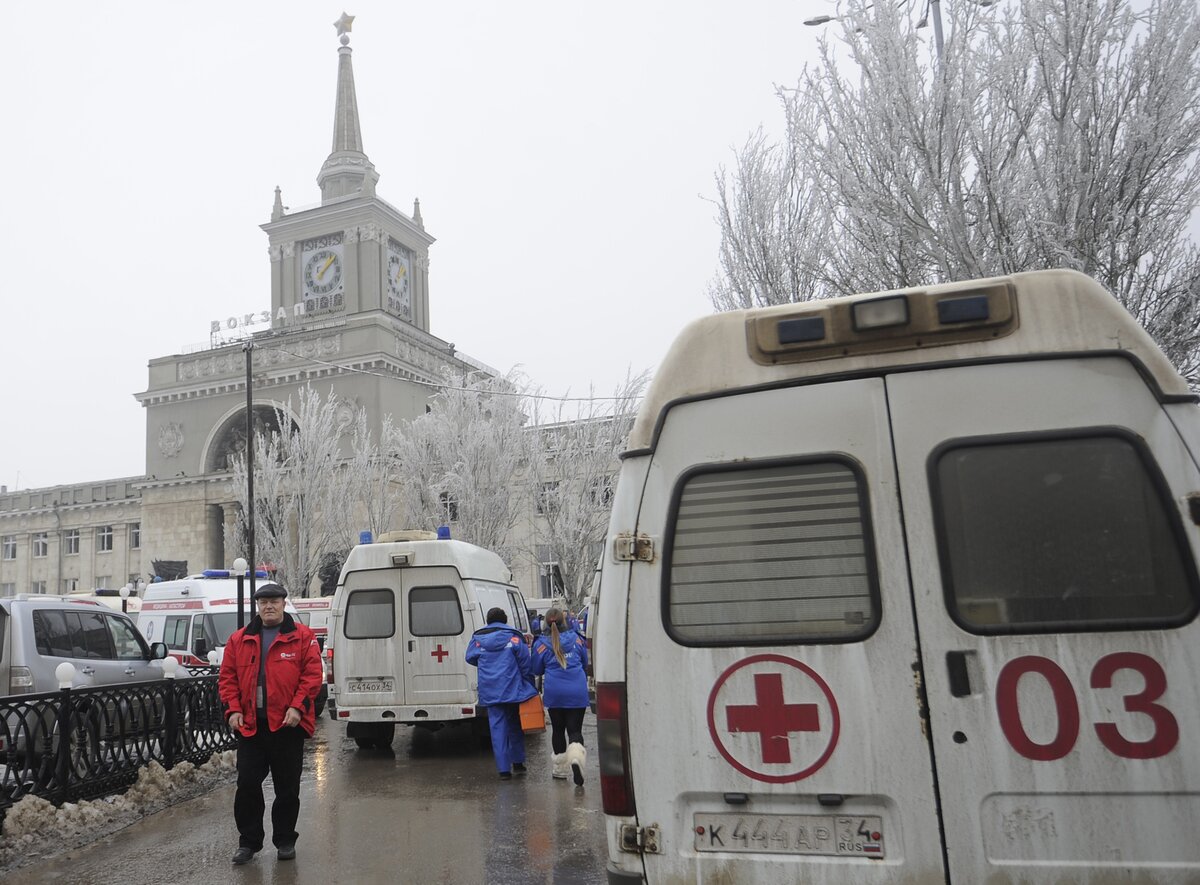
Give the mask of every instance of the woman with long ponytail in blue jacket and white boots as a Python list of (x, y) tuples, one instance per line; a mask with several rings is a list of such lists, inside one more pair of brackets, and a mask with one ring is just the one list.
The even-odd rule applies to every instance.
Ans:
[(566, 622), (564, 612), (546, 613), (542, 636), (533, 643), (533, 673), (542, 676), (542, 703), (550, 711), (550, 746), (554, 751), (551, 776), (566, 779), (570, 769), (576, 787), (583, 785), (583, 714), (588, 709), (588, 650)]

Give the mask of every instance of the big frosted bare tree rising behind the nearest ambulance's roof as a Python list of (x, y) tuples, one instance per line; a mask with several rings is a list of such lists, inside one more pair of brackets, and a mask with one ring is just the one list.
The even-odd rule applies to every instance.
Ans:
[(718, 174), (714, 306), (1072, 267), (1200, 383), (1196, 4), (943, 10), (938, 60), (905, 5), (850, 0), (779, 90), (786, 139)]

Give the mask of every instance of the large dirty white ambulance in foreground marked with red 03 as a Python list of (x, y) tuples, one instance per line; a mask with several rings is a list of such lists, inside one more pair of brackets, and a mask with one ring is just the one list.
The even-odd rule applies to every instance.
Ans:
[(608, 883), (1200, 881), (1200, 410), (1068, 271), (707, 317), (632, 429)]

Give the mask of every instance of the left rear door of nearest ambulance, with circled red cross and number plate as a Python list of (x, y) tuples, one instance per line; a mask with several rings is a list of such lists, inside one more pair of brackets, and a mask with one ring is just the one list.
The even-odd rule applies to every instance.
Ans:
[(630, 567), (647, 881), (943, 883), (883, 379), (674, 405)]

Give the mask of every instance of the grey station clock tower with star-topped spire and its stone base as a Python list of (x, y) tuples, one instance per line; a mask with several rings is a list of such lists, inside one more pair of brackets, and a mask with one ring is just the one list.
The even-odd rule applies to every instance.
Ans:
[[(269, 429), (312, 385), (342, 402), (338, 435), (349, 445), (358, 409), (379, 438), (385, 420), (425, 414), (446, 372), (496, 374), (430, 333), (428, 254), (420, 204), (407, 215), (376, 193), (379, 174), (362, 150), (352, 17), (341, 41), (334, 143), (317, 175), (320, 204), (289, 211), (275, 189), (270, 241), (270, 329), (228, 341), (214, 323), (210, 347), (150, 361), (146, 478), (140, 543), (185, 573), (227, 566), (226, 528), (236, 518), (230, 464), (245, 447), (246, 350), (253, 369), (253, 423)], [(247, 308), (251, 307), (247, 305)], [(259, 317), (266, 312), (247, 314)]]

